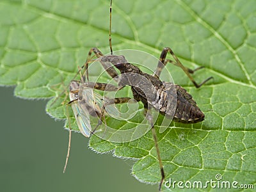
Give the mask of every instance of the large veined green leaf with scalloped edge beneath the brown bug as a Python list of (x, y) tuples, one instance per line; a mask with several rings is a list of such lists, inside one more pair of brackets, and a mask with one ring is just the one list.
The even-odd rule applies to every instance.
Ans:
[[(15, 85), (17, 97), (60, 95), (90, 48), (109, 52), (108, 1), (8, 0), (0, 2), (0, 13), (0, 84)], [(196, 89), (182, 70), (167, 66), (175, 83), (193, 95), (205, 120), (175, 123), (163, 133), (156, 124), (166, 180), (205, 182), (220, 173), (222, 180), (255, 184), (255, 1), (116, 0), (112, 16), (113, 49), (138, 49), (158, 58), (163, 47), (172, 47), (186, 67), (205, 67), (194, 75), (196, 82), (214, 77)], [(61, 99), (47, 104), (54, 118), (66, 118)], [(92, 136), (90, 147), (138, 159), (132, 174), (142, 182), (161, 179), (151, 132), (129, 143)]]

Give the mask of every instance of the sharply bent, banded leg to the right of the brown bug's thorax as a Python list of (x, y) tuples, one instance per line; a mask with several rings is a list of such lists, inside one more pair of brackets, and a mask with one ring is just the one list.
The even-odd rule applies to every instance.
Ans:
[[(172, 61), (172, 60), (166, 60), (166, 54), (170, 52), (170, 54), (172, 54), (174, 60), (176, 61)], [(197, 84), (195, 79), (190, 75), (190, 74), (193, 74), (196, 70), (199, 70), (201, 68), (204, 68), (204, 67), (198, 67), (196, 68), (195, 70), (192, 70), (188, 67), (184, 67), (184, 65), (182, 65), (182, 63), (180, 62), (180, 60), (177, 58), (177, 56), (175, 56), (174, 52), (172, 51), (172, 49), (170, 47), (165, 47), (163, 49), (163, 51), (161, 52), (161, 56), (159, 58), (159, 62), (158, 62), (158, 65), (157, 65), (157, 69), (156, 69), (156, 72), (154, 72), (154, 77), (157, 77), (159, 78), (160, 74), (161, 74), (161, 71), (163, 70), (164, 66), (167, 64), (167, 63), (172, 63), (173, 65), (176, 65), (180, 68), (182, 68), (182, 70), (186, 73), (186, 75), (189, 77), (189, 79), (192, 81), (192, 83), (195, 85), (196, 88), (200, 88), (200, 86), (202, 86), (203, 84), (205, 84), (207, 81), (209, 81), (210, 79), (212, 79), (213, 77), (209, 77), (207, 79), (205, 79), (202, 83), (200, 84)]]

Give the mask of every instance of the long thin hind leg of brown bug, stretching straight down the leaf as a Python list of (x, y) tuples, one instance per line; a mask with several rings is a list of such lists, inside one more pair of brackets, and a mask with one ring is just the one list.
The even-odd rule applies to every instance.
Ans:
[(158, 159), (158, 163), (159, 163), (159, 167), (160, 167), (160, 171), (161, 171), (161, 181), (160, 181), (158, 189), (159, 189), (159, 191), (161, 191), (161, 188), (162, 188), (162, 185), (164, 182), (164, 178), (165, 178), (164, 167), (163, 167), (162, 159), (160, 156), (160, 150), (159, 150), (158, 141), (157, 141), (157, 134), (156, 134), (156, 129), (154, 128), (154, 122), (153, 122), (153, 118), (152, 118), (152, 114), (151, 114), (151, 109), (148, 109), (148, 108), (144, 108), (144, 109), (145, 109), (144, 115), (147, 118), (148, 122), (150, 122), (151, 131), (152, 131), (152, 135), (153, 135), (154, 142), (155, 142), (157, 159)]

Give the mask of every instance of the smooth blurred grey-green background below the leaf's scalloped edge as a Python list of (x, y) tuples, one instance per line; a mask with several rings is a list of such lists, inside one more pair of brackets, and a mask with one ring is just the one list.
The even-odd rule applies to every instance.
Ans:
[(47, 100), (24, 100), (13, 88), (0, 88), (1, 191), (157, 191), (138, 182), (131, 160), (95, 154), (88, 138), (72, 134), (70, 160), (65, 163), (68, 131), (45, 113)]

